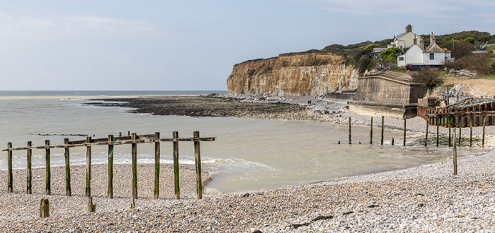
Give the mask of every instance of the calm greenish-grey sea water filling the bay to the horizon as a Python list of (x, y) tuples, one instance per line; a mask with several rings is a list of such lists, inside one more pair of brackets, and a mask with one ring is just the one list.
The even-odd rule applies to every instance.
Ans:
[[(385, 131), (385, 145), (369, 145), (369, 128), (354, 126), (353, 145), (348, 126), (313, 121), (239, 119), (235, 117), (177, 117), (129, 114), (119, 107), (84, 105), (91, 98), (160, 95), (206, 95), (222, 91), (182, 92), (0, 92), (0, 145), (13, 147), (62, 144), (63, 138), (40, 134), (87, 134), (106, 138), (127, 131), (138, 134), (161, 132), (162, 137), (216, 136), (201, 144), (202, 166), (214, 175), (206, 192), (241, 192), (281, 188), (356, 174), (403, 169), (447, 160), (450, 149), (418, 145), (421, 133), (408, 133), (408, 144), (391, 146), (390, 139), (402, 138), (402, 131)], [(224, 91), (223, 91), (224, 92)], [(376, 131), (379, 131), (378, 129)], [(375, 133), (378, 139), (378, 134)], [(375, 139), (376, 142), (378, 140)], [(363, 144), (357, 142), (361, 141)], [(402, 143), (401, 143), (402, 144)], [(93, 147), (93, 164), (105, 164), (107, 147)], [(153, 145), (138, 145), (138, 162), (153, 163)], [(172, 144), (162, 143), (161, 162), (172, 163)], [(480, 153), (462, 148), (460, 153)], [(52, 150), (52, 166), (64, 165), (63, 149)], [(115, 148), (115, 163), (130, 164), (130, 145)], [(0, 154), (0, 169), (6, 169), (6, 152)], [(2, 162), (3, 161), (3, 162)], [(194, 164), (192, 143), (180, 143), (180, 163)], [(86, 164), (86, 149), (71, 149), (71, 165)], [(33, 151), (33, 167), (45, 166), (45, 150)], [(25, 151), (13, 152), (13, 167), (26, 167)]]

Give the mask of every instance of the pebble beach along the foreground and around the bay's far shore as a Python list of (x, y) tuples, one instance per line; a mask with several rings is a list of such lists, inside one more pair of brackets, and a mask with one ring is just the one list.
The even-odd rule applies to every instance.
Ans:
[[(301, 105), (305, 101), (303, 97), (282, 100)], [(349, 112), (342, 109), (342, 104), (327, 100), (314, 102), (296, 114), (258, 114), (257, 118), (296, 116), (299, 120), (345, 124), (345, 119), (351, 117), (353, 124), (371, 124), (370, 116)], [(334, 112), (313, 114), (321, 106)], [(416, 117), (408, 121), (408, 131), (424, 132), (424, 120)], [(388, 129), (402, 129), (402, 119), (386, 117), (385, 122)], [(373, 126), (380, 124), (373, 121)], [(431, 128), (431, 133), (436, 132)], [(478, 131), (475, 129), (475, 133), (479, 134)], [(494, 131), (494, 126), (487, 127), (487, 147), (493, 147)], [(446, 132), (441, 129), (441, 133)], [(6, 184), (0, 187), (0, 229), (3, 232), (495, 232), (494, 166), (495, 150), (489, 149), (487, 153), (458, 158), (458, 175), (453, 175), (453, 162), (447, 160), (285, 189), (204, 195), (201, 200), (196, 199), (194, 167), (182, 166), (181, 198), (175, 200), (173, 168), (165, 165), (161, 167), (161, 198), (154, 200), (153, 165), (139, 165), (139, 198), (136, 208), (131, 208), (130, 166), (115, 167), (115, 198), (109, 199), (107, 168), (95, 165), (92, 169), (95, 213), (88, 213), (88, 198), (84, 197), (85, 167), (71, 167), (70, 197), (65, 196), (64, 167), (52, 167), (51, 196), (45, 195), (45, 169), (33, 169), (33, 194), (25, 194), (26, 171), (21, 169), (14, 170), (14, 193), (7, 193)], [(6, 177), (5, 171), (0, 172), (0, 179), (6, 181)], [(214, 179), (207, 171), (202, 177), (204, 186)], [(50, 217), (39, 217), (41, 198), (50, 201)]]

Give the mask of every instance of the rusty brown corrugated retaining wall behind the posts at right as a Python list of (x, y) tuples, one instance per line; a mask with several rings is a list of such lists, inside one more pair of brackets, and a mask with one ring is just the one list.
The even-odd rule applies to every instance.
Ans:
[(429, 125), (468, 127), (495, 125), (495, 100), (470, 99), (447, 107), (418, 106), (418, 116)]

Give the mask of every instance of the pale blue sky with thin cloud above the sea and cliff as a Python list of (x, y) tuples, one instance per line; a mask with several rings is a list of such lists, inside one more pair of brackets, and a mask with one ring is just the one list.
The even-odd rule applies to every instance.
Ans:
[(226, 90), (234, 64), (479, 30), (495, 1), (0, 0), (0, 90)]

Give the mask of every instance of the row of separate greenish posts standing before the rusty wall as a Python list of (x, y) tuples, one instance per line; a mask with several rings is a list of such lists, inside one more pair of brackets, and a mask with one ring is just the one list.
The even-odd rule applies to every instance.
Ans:
[[(427, 114), (426, 115), (426, 133), (425, 133), (425, 141), (424, 141), (424, 146), (428, 145), (428, 134), (429, 134), (429, 125), (433, 124), (432, 122), (435, 121), (434, 125), (436, 125), (436, 146), (438, 147), (439, 144), (439, 126), (448, 127), (448, 146), (452, 146), (452, 128), (455, 128), (456, 126), (459, 128), (459, 146), (461, 145), (461, 130), (462, 130), (462, 124), (460, 119), (462, 119), (462, 114), (470, 114), (470, 147), (472, 147), (472, 127), (475, 125), (478, 126), (483, 126), (483, 133), (482, 133), (482, 147), (484, 148), (484, 134), (485, 134), (485, 126), (487, 125), (487, 119), (490, 119), (495, 115), (495, 112), (469, 112), (469, 113), (459, 113), (459, 114), (448, 114), (449, 118), (445, 118), (443, 116), (444, 114)], [(441, 119), (446, 119), (441, 120)], [(457, 120), (456, 120), (457, 119)], [(474, 119), (479, 119), (479, 124), (474, 124)], [(383, 145), (383, 129), (384, 129), (384, 121), (385, 117), (382, 116), (382, 125), (381, 125), (381, 139), (380, 139), (380, 145)], [(404, 141), (402, 145), (406, 145), (406, 129), (407, 129), (407, 119), (404, 117)], [(455, 143), (455, 142), (454, 142)], [(352, 139), (351, 139), (351, 117), (349, 117), (349, 144), (352, 144)], [(373, 117), (371, 117), (371, 125), (370, 125), (370, 144), (373, 144)], [(394, 145), (394, 138), (392, 138), (392, 145)]]

